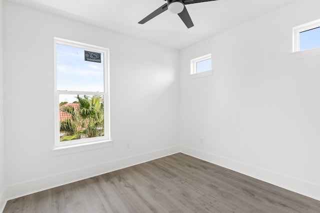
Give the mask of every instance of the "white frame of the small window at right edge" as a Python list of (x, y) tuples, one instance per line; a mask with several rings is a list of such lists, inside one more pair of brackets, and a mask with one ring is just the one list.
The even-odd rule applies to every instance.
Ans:
[[(292, 28), (292, 52), (300, 51), (300, 32), (304, 32), (317, 27), (320, 27), (320, 19), (310, 21), (304, 24), (300, 24), (298, 26), (294, 26)], [(310, 49), (315, 49), (315, 48), (320, 48), (320, 46), (310, 48)], [(310, 50), (310, 49), (305, 49), (305, 50)], [(302, 51), (305, 51), (305, 50), (302, 50)]]

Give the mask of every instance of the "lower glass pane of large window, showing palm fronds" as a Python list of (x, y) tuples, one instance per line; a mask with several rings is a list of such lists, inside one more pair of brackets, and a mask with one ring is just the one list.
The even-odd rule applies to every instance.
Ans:
[(59, 95), (60, 141), (104, 136), (103, 96)]

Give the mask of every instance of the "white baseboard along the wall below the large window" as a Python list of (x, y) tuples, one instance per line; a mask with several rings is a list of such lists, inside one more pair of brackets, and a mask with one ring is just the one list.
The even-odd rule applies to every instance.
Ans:
[(115, 161), (105, 162), (87, 168), (68, 171), (65, 173), (54, 174), (23, 183), (14, 184), (6, 187), (7, 200), (19, 198), (21, 196), (84, 180), (108, 172), (116, 171), (147, 161), (151, 161), (164, 156), (180, 152), (180, 146), (173, 146), (166, 149), (156, 150), (149, 153), (130, 156)]

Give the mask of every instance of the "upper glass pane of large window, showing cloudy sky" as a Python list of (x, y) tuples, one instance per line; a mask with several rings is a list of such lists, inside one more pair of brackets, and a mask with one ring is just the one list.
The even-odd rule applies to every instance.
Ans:
[(104, 92), (103, 52), (101, 62), (84, 60), (84, 49), (56, 45), (57, 90)]

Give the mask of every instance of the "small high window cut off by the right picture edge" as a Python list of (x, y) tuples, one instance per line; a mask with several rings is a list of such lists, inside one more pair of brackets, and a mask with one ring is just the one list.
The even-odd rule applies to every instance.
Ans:
[(293, 52), (320, 47), (320, 19), (293, 27)]

